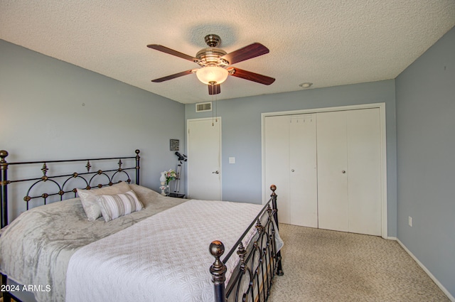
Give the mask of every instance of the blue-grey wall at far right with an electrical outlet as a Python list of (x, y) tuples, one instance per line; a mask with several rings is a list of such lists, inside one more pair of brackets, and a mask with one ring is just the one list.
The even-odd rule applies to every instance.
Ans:
[(397, 77), (396, 95), (397, 237), (455, 296), (455, 28)]

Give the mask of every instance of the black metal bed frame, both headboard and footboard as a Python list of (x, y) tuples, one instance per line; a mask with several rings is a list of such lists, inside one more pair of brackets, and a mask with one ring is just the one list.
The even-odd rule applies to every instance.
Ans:
[[(72, 179), (82, 179), (85, 186), (84, 189), (90, 190), (90, 188), (102, 188), (103, 186), (112, 185), (114, 176), (117, 173), (124, 173), (127, 176), (127, 183), (131, 182), (131, 178), (127, 173), (128, 170), (134, 169), (136, 171), (135, 183), (139, 185), (139, 150), (135, 151), (136, 156), (121, 156), (121, 157), (112, 157), (112, 158), (89, 158), (89, 159), (70, 159), (70, 160), (57, 160), (57, 161), (26, 161), (26, 162), (15, 162), (8, 163), (6, 157), (9, 155), (7, 151), (0, 151), (0, 205), (1, 205), (1, 228), (8, 225), (8, 185), (10, 183), (20, 183), (20, 182), (32, 182), (33, 184), (28, 188), (26, 196), (23, 200), (26, 202), (26, 207), (28, 210), (29, 201), (35, 198), (43, 198), (43, 203), (46, 204), (47, 199), (53, 195), (59, 195), (59, 199), (63, 200), (63, 195), (66, 193), (73, 193), (76, 197), (77, 188), (66, 189), (65, 185), (69, 183)], [(122, 168), (122, 160), (129, 158), (135, 158), (136, 166)], [(112, 170), (97, 170), (90, 171), (92, 168), (92, 163), (95, 161), (106, 161), (106, 160), (119, 160), (117, 165), (118, 168)], [(70, 173), (63, 174), (58, 176), (48, 176), (48, 163), (70, 163), (70, 162), (85, 162), (86, 171), (82, 173)], [(12, 165), (26, 165), (26, 164), (43, 164), (41, 171), (43, 176), (39, 178), (26, 178), (20, 180), (9, 180), (8, 179), (8, 168)], [(109, 176), (110, 174), (110, 176)], [(104, 176), (105, 182), (92, 185), (97, 176)], [(56, 180), (60, 179), (60, 180)], [(53, 183), (58, 190), (56, 193), (42, 193), (41, 195), (31, 195), (31, 190), (38, 185), (39, 183)], [(61, 183), (61, 185), (60, 185)], [(223, 256), (225, 252), (224, 244), (220, 241), (214, 241), (210, 244), (209, 251), (210, 254), (215, 257), (215, 261), (212, 266), (210, 266), (210, 274), (212, 274), (212, 281), (214, 286), (215, 302), (230, 302), (230, 301), (267, 301), (267, 298), (270, 293), (270, 288), (272, 286), (272, 281), (275, 274), (282, 275), (282, 257), (275, 244), (275, 234), (278, 232), (278, 216), (277, 216), (277, 194), (275, 190), (277, 187), (272, 185), (270, 187), (272, 190), (272, 195), (270, 200), (264, 205), (261, 212), (257, 215), (255, 220), (250, 224), (250, 227), (245, 230), (244, 234), (237, 240), (232, 249), (225, 256), (223, 261), (220, 257)], [(266, 222), (264, 222), (263, 215), (265, 215)], [(263, 224), (263, 225), (262, 225)], [(251, 227), (255, 226), (256, 232), (250, 244), (244, 246), (244, 237), (247, 234), (248, 230)], [(237, 249), (237, 255), (239, 257), (239, 263), (232, 273), (230, 281), (228, 284), (225, 284), (225, 273), (226, 262)], [(245, 281), (245, 279), (247, 279)], [(1, 274), (1, 284), (7, 284), (7, 276)], [(243, 292), (241, 292), (241, 286), (243, 284), (247, 286), (243, 287)], [(14, 298), (15, 301), (20, 302), (13, 294), (8, 291), (3, 291), (4, 302), (11, 302), (11, 298)]]

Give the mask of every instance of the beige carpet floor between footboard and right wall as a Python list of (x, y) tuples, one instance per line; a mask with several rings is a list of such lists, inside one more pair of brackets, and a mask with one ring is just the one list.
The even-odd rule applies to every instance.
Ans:
[(279, 225), (284, 276), (269, 302), (449, 301), (394, 240)]

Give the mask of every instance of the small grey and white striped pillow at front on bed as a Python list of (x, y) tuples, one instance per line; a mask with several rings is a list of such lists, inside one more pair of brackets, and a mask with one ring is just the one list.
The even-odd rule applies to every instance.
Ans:
[(133, 190), (124, 194), (98, 195), (97, 202), (100, 204), (101, 214), (105, 218), (105, 222), (144, 208)]

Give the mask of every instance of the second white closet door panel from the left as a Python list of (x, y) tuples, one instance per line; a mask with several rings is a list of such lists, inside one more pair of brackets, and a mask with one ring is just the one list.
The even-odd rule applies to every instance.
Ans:
[(316, 114), (291, 116), (289, 125), (290, 223), (318, 227)]

